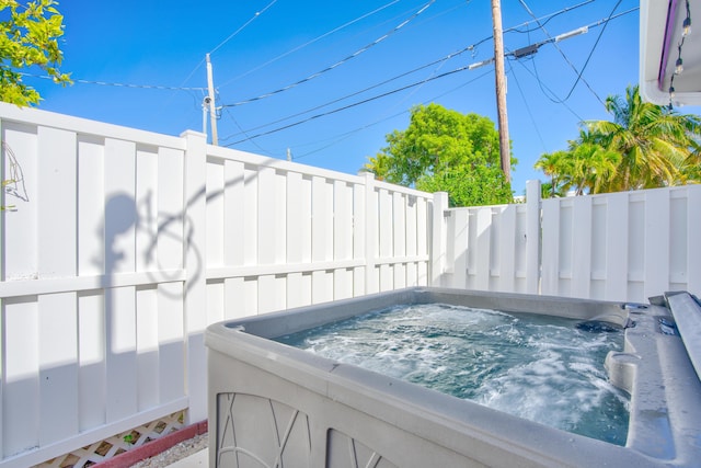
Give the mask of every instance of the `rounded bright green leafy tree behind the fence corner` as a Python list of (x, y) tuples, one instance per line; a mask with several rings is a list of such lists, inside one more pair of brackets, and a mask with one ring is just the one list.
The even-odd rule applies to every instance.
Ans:
[(364, 167), (380, 180), (448, 192), (451, 206), (513, 199), (499, 165), (498, 132), (487, 117), (435, 103), (420, 105), (412, 110), (409, 127), (386, 140), (388, 146)]

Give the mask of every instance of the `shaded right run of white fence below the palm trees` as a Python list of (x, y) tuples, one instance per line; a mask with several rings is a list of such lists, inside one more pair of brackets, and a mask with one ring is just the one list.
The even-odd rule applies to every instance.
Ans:
[(701, 295), (701, 185), (542, 202), (537, 181), (527, 190), (525, 204), (445, 210), (434, 284), (637, 303)]

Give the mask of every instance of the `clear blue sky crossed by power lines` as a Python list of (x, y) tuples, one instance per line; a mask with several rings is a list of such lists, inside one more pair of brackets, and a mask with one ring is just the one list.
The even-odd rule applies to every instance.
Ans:
[[(504, 35), (505, 48), (637, 5), (502, 0), (504, 28), (514, 28)], [(77, 81), (61, 88), (27, 77), (44, 98), (43, 110), (169, 135), (202, 130), (205, 55), (211, 53), (217, 105), (226, 105), (218, 121), (221, 146), (280, 159), (289, 148), (297, 162), (357, 173), (387, 134), (406, 128), (414, 105), (436, 102), (496, 122), (494, 67), (449, 73), (493, 56), (490, 0), (65, 0), (59, 10), (66, 25), (61, 68)], [(599, 100), (624, 94), (637, 83), (637, 11), (507, 60), (516, 194), (529, 179), (545, 180), (535, 161), (565, 149), (582, 119), (608, 117)]]

